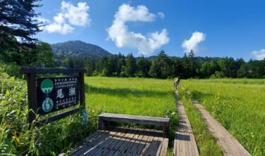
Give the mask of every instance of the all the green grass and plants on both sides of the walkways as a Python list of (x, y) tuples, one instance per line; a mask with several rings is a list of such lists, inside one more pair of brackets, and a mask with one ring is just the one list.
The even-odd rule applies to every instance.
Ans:
[[(88, 124), (81, 124), (80, 116), (76, 114), (44, 126), (29, 127), (25, 81), (8, 77), (6, 74), (1, 74), (1, 77), (1, 153), (58, 155), (60, 152), (68, 152), (85, 136), (97, 130), (99, 114), (112, 112), (154, 117), (168, 115), (171, 139), (168, 155), (173, 154), (172, 142), (178, 122), (173, 79), (85, 77)], [(238, 138), (252, 155), (265, 155), (264, 80), (190, 79), (181, 80), (181, 84)], [(180, 94), (190, 122), (193, 123), (192, 129), (200, 154), (221, 155), (220, 148), (207, 132), (207, 127), (196, 108), (190, 104), (190, 96)]]

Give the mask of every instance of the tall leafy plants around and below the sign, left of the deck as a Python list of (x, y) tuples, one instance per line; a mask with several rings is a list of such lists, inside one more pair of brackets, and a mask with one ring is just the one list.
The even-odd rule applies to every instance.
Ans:
[(92, 123), (82, 125), (78, 114), (30, 125), (26, 82), (0, 72), (0, 85), (0, 155), (58, 155), (95, 131)]

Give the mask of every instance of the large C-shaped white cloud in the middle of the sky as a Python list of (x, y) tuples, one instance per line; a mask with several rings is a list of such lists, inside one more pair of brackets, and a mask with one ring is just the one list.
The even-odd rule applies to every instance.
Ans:
[(149, 32), (146, 36), (141, 33), (132, 32), (125, 22), (153, 22), (156, 18), (154, 13), (149, 13), (146, 6), (132, 7), (123, 4), (114, 15), (114, 20), (107, 29), (109, 39), (115, 42), (118, 47), (136, 48), (138, 53), (149, 56), (157, 48), (160, 48), (169, 41), (166, 29), (161, 32)]

